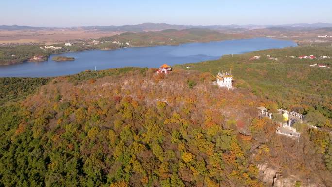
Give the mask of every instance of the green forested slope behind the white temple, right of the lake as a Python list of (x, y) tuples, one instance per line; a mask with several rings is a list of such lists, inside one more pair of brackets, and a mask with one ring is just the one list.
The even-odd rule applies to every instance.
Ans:
[[(297, 58), (304, 55), (315, 55), (317, 58)], [(261, 58), (251, 59), (254, 56)], [(332, 59), (319, 59), (320, 56), (332, 56), (332, 48), (271, 49), (225, 55), (216, 61), (178, 67), (188, 69), (186, 67), (189, 66), (189, 69), (210, 72), (214, 75), (220, 70), (231, 71), (236, 87), (247, 88), (255, 95), (277, 103), (275, 106), (268, 106), (270, 109), (282, 107), (303, 114), (318, 111), (332, 119)], [(323, 64), (330, 68), (310, 67), (312, 64)]]

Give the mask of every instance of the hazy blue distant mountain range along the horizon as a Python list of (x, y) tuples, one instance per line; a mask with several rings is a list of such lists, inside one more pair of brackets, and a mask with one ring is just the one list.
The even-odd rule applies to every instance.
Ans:
[[(205, 29), (262, 29), (262, 28), (286, 28), (290, 30), (296, 29), (319, 29), (330, 28), (332, 23), (297, 23), (297, 24), (283, 24), (283, 25), (172, 25), (166, 23), (142, 23), (138, 25), (122, 25), (122, 26), (83, 26), (70, 27), (72, 29), (82, 28), (87, 30), (100, 31), (121, 31), (121, 32), (142, 32), (142, 31), (160, 31), (166, 29), (189, 29), (189, 28), (205, 28)], [(0, 25), (3, 30), (40, 30), (40, 29), (56, 29), (59, 27), (32, 27), (19, 25)]]

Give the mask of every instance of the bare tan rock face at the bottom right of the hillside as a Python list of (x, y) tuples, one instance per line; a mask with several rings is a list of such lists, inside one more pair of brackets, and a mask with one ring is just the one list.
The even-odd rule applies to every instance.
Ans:
[[(267, 187), (297, 187), (295, 186), (297, 181), (301, 181), (299, 177), (290, 175), (287, 177), (282, 176), (279, 173), (280, 167), (270, 166), (267, 163), (258, 164), (258, 169), (262, 180), (266, 183)], [(326, 187), (322, 184), (310, 183), (309, 181), (302, 181), (300, 187)]]

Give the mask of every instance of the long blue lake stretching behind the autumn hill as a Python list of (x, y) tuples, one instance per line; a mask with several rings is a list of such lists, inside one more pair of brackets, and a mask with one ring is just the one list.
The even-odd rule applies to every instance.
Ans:
[[(0, 77), (50, 77), (75, 74), (86, 69), (121, 67), (157, 68), (168, 65), (216, 60), (224, 54), (297, 46), (293, 41), (271, 38), (187, 43), (179, 46), (133, 47), (116, 50), (90, 50), (51, 55), (46, 62), (25, 62), (0, 66)], [(54, 56), (75, 57), (75, 61), (55, 62)]]

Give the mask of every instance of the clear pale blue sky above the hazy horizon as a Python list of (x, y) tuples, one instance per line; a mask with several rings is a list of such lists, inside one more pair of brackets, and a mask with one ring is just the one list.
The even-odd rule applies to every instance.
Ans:
[(332, 23), (332, 0), (0, 0), (0, 25)]

